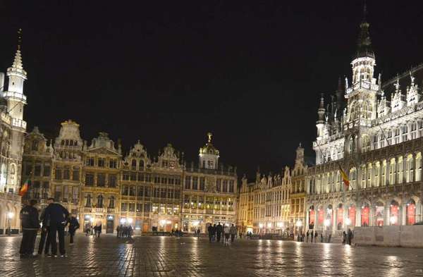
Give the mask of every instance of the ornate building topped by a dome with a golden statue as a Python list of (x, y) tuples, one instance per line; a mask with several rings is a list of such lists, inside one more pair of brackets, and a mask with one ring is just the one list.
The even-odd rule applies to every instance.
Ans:
[(223, 168), (219, 150), (212, 144), (212, 134), (200, 148), (198, 167), (184, 166), (182, 227), (186, 232), (197, 228), (204, 233), (209, 224), (235, 224), (237, 197), (236, 168)]

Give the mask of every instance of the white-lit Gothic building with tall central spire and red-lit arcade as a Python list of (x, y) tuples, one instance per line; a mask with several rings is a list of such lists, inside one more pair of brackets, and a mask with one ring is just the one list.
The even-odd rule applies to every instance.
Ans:
[[(351, 66), (336, 101), (325, 107), (320, 100), (307, 223), (336, 233), (422, 221), (423, 66), (382, 84), (365, 19)], [(340, 167), (350, 179), (346, 191)]]

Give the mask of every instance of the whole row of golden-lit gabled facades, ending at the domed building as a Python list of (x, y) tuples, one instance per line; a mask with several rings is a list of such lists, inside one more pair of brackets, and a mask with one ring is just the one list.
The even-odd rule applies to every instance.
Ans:
[(27, 198), (45, 204), (54, 197), (80, 218), (82, 226), (101, 223), (107, 233), (118, 224), (135, 231), (192, 232), (208, 223), (235, 223), (235, 168), (218, 168), (219, 151), (209, 142), (200, 149), (199, 167), (186, 166), (183, 154), (168, 144), (154, 159), (137, 142), (122, 158), (121, 145), (106, 133), (81, 139), (79, 125), (61, 123), (54, 143), (34, 128), (25, 137), (23, 175)]

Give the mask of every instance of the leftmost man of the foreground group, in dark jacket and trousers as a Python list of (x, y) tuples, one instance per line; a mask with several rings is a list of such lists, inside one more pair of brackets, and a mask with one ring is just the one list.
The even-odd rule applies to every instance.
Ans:
[(35, 238), (39, 229), (38, 210), (34, 206), (37, 200), (31, 199), (30, 204), (20, 210), (20, 222), (22, 223), (22, 242), (20, 242), (20, 257), (34, 257)]

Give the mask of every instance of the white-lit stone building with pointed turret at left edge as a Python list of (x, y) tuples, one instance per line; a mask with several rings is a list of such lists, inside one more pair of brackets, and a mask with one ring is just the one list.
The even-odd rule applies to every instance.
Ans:
[(0, 234), (6, 233), (9, 228), (17, 233), (20, 228), (18, 191), (26, 130), (23, 109), (27, 104), (23, 93), (27, 73), (23, 69), (20, 44), (6, 74), (7, 90), (4, 73), (0, 73)]

